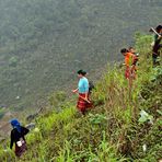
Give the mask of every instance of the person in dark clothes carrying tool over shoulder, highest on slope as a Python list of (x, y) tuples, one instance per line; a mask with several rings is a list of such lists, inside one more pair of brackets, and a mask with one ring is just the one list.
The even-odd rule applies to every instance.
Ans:
[(160, 61), (158, 60), (158, 57), (160, 57), (160, 49), (162, 48), (162, 25), (158, 25), (155, 27), (155, 32), (158, 34), (154, 35), (154, 45), (152, 49), (152, 60), (153, 60), (153, 66), (160, 65)]

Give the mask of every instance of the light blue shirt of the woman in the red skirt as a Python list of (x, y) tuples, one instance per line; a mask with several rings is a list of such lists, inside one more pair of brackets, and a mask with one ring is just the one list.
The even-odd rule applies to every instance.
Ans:
[(81, 78), (78, 83), (79, 93), (89, 92), (89, 81), (85, 77)]

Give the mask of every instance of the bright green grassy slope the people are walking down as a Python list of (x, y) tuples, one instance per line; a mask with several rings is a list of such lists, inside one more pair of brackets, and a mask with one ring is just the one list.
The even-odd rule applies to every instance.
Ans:
[[(150, 36), (136, 35), (140, 61), (131, 93), (124, 68), (116, 65), (112, 70), (107, 67), (96, 84), (94, 108), (85, 116), (77, 113), (73, 99), (65, 101), (63, 93), (57, 100), (50, 97), (53, 111), (46, 107), (35, 119), (37, 128), (27, 136), (28, 151), (16, 161), (157, 162), (162, 154), (162, 69), (151, 67), (150, 43)], [(140, 111), (151, 120), (141, 119)], [(0, 161), (14, 161), (13, 153), (3, 150), (5, 144)]]

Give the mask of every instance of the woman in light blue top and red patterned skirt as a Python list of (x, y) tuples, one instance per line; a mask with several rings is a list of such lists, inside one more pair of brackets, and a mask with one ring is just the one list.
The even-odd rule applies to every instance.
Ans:
[(86, 108), (91, 107), (91, 102), (89, 100), (89, 80), (85, 78), (86, 72), (83, 70), (78, 71), (79, 83), (73, 93), (79, 93), (78, 109), (85, 115)]

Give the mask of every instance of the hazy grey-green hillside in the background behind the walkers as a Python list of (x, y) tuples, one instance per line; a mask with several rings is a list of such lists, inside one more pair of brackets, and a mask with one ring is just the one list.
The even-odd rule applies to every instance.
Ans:
[(161, 15), (161, 0), (1, 0), (0, 107), (36, 107), (80, 68), (97, 77)]

